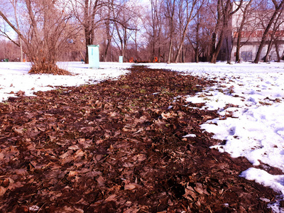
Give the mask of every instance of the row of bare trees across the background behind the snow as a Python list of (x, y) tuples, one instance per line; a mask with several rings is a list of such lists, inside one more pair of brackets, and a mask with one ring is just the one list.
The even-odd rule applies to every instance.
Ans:
[(53, 72), (58, 60), (79, 55), (88, 62), (91, 44), (100, 45), (104, 61), (123, 55), (168, 63), (214, 63), (222, 48), (230, 62), (236, 45), (239, 61), (243, 31), (263, 32), (258, 62), (263, 46), (275, 43), (283, 24), (284, 0), (147, 1), (0, 0), (1, 35), (28, 55), (34, 70)]

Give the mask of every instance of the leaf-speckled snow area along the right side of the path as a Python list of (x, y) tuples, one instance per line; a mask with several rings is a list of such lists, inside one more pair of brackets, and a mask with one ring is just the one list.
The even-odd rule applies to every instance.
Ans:
[(264, 167), (280, 168), (284, 173), (284, 63), (228, 65), (219, 62), (215, 65), (153, 64), (151, 67), (217, 80), (213, 87), (187, 97), (187, 102), (204, 102), (203, 109), (218, 110), (220, 118), (201, 125), (204, 131), (214, 133), (214, 138), (226, 141), (212, 148), (227, 152), (233, 158), (247, 158), (252, 163), (251, 168), (240, 176), (279, 192), (278, 202), (271, 202), (269, 206), (273, 212), (284, 212), (280, 208), (284, 175), (271, 175), (253, 168), (253, 165), (265, 163)]

